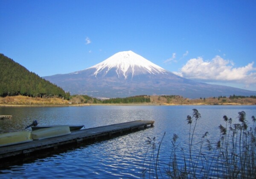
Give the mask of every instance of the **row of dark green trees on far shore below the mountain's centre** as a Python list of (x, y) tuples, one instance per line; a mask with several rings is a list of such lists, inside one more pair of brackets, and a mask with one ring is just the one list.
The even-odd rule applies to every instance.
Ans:
[(111, 98), (102, 101), (103, 104), (129, 104), (129, 103), (149, 103), (150, 97), (147, 95), (131, 96), (127, 98)]

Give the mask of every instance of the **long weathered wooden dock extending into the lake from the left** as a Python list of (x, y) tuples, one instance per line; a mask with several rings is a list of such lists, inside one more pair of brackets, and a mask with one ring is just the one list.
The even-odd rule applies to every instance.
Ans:
[(153, 127), (154, 121), (131, 121), (119, 124), (112, 124), (102, 127), (93, 127), (84, 130), (73, 131), (66, 136), (59, 136), (50, 139), (34, 140), (23, 144), (15, 144), (6, 147), (0, 147), (0, 159), (17, 155), (28, 155), (29, 153), (48, 149), (70, 143), (79, 143), (83, 141), (97, 140), (102, 137), (111, 137), (122, 135), (136, 130), (142, 130), (147, 127)]

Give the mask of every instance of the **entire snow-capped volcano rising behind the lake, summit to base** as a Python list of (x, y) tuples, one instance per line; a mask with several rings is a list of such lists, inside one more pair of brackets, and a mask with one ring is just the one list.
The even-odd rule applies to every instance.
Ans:
[(43, 77), (71, 95), (118, 98), (134, 95), (182, 95), (186, 98), (219, 95), (256, 95), (255, 91), (199, 83), (182, 78), (132, 51), (118, 52), (90, 68)]

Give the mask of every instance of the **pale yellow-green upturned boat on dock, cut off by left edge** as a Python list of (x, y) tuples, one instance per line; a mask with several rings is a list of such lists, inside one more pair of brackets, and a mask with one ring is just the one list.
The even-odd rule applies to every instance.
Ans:
[(0, 147), (33, 141), (29, 131), (0, 134)]

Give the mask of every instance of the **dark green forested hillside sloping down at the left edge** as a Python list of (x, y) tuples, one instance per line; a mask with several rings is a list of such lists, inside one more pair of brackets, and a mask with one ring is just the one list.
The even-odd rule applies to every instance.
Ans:
[(69, 97), (69, 93), (65, 93), (57, 85), (40, 78), (12, 59), (0, 54), (0, 96), (7, 95)]

